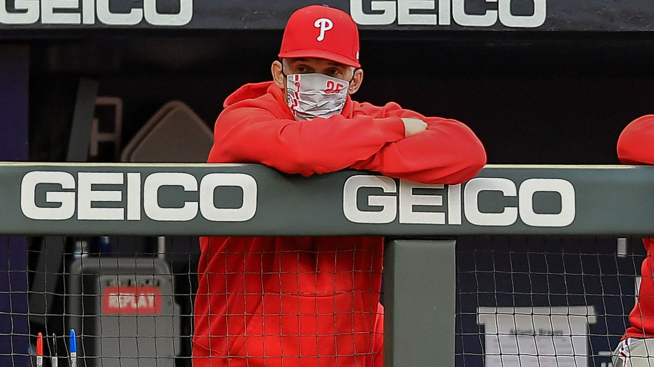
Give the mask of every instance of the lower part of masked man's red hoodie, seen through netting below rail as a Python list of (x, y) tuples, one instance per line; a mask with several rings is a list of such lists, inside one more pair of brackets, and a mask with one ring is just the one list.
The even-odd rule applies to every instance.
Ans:
[(381, 354), (383, 238), (231, 237), (201, 246), (199, 366), (223, 356), (233, 366), (364, 367)]

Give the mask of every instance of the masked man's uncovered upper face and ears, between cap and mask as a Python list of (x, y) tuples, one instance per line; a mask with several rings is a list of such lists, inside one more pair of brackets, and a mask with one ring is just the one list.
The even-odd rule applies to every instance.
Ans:
[(281, 62), (274, 61), (272, 65), (273, 80), (279, 88), (284, 90), (284, 101), (286, 101), (286, 76), (284, 75), (309, 74), (312, 72), (346, 80), (349, 82), (348, 94), (356, 92), (364, 78), (362, 69), (354, 69), (354, 67), (336, 61), (319, 59), (318, 57), (283, 59)]

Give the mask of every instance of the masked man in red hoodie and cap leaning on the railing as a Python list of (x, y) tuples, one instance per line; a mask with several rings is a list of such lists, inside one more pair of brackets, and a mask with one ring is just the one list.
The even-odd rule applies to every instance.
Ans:
[[(209, 162), (304, 176), (354, 168), (422, 183), (460, 183), (481, 170), (484, 148), (466, 125), (354, 102), (358, 56), (347, 13), (296, 11), (273, 81), (226, 99)], [(383, 238), (209, 237), (200, 246), (194, 367), (381, 367)]]

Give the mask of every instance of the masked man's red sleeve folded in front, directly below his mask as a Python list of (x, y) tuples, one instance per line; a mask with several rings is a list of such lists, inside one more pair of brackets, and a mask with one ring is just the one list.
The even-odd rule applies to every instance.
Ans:
[(264, 108), (240, 106), (218, 116), (209, 161), (263, 163), (309, 176), (350, 167), (402, 138), (404, 123), (397, 116), (296, 121), (281, 120)]

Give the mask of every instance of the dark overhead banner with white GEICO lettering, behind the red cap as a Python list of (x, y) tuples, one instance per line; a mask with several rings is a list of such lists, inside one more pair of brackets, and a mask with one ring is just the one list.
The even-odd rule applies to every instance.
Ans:
[[(0, 0), (0, 30), (283, 29), (311, 0)], [(651, 31), (651, 0), (321, 0), (361, 29)], [(65, 7), (64, 7), (65, 6)], [(8, 32), (9, 31), (9, 32)], [(14, 34), (15, 35), (15, 34)]]

